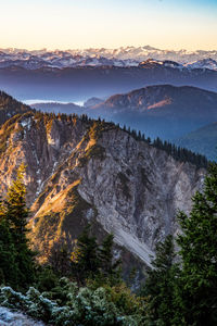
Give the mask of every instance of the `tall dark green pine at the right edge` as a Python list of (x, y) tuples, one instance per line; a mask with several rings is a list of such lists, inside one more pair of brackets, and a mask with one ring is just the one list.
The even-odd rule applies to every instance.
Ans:
[(186, 325), (217, 325), (217, 164), (210, 165), (203, 192), (193, 197), (190, 216), (180, 212), (178, 218), (181, 314)]

